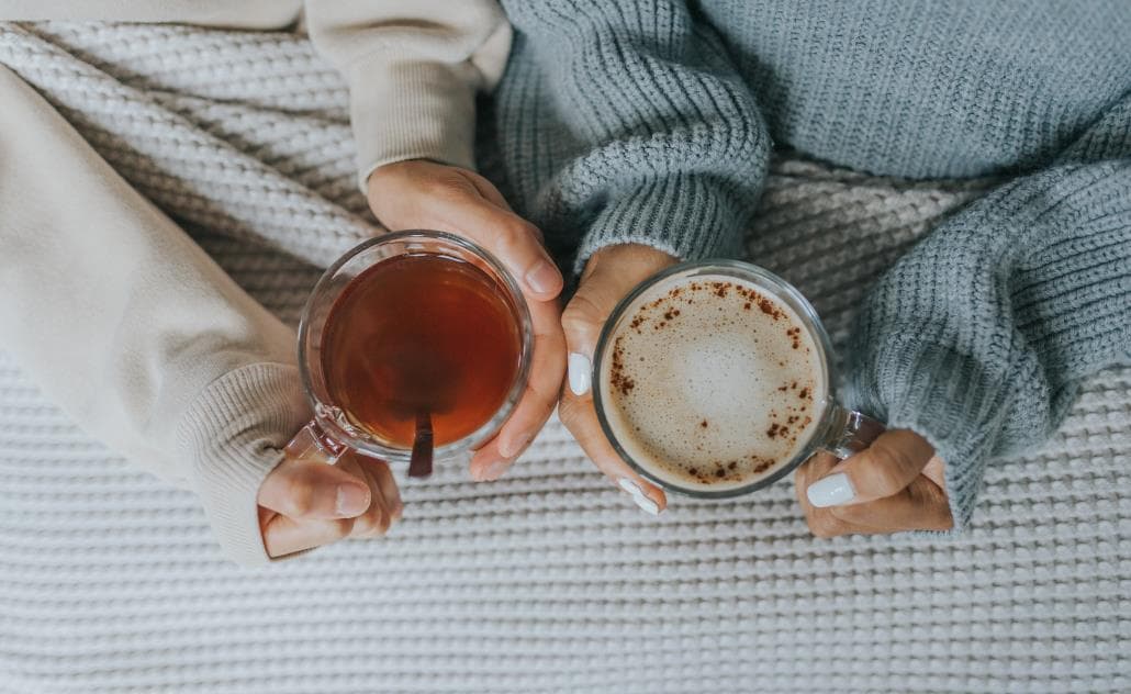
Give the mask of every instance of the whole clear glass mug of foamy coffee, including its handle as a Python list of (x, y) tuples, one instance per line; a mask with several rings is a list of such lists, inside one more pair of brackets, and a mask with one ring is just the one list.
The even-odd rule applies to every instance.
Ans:
[(884, 426), (841, 405), (809, 301), (746, 262), (672, 266), (613, 310), (594, 359), (605, 436), (637, 472), (702, 498), (761, 489), (823, 450), (847, 458)]

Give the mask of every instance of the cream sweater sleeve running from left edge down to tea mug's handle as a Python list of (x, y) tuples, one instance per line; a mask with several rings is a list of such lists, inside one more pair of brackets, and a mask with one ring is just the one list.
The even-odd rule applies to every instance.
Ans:
[(266, 558), (254, 493), (305, 416), (290, 329), (0, 69), (0, 346), (94, 436)]

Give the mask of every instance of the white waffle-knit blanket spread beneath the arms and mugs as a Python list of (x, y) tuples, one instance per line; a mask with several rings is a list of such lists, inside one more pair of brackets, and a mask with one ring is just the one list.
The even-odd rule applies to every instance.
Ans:
[[(345, 90), (301, 38), (7, 26), (0, 62), (285, 320), (371, 232)], [(843, 344), (977, 190), (779, 162), (751, 255)], [(787, 483), (648, 517), (552, 422), (501, 482), (405, 482), (387, 539), (252, 571), (0, 355), (0, 692), (1129, 692), (1129, 423), (1108, 372), (991, 468), (964, 537), (819, 540)]]

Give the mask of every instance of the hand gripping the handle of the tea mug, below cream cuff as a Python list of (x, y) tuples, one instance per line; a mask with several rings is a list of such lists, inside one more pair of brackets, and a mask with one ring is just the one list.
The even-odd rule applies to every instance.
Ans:
[(389, 466), (352, 451), (336, 465), (288, 456), (260, 485), (258, 501), (271, 557), (385, 535), (404, 511)]

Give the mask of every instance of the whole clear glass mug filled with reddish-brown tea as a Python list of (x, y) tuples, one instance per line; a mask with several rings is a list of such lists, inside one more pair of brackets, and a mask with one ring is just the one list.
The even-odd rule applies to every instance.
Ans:
[(287, 453), (335, 462), (352, 449), (426, 476), (433, 458), (466, 457), (502, 427), (532, 348), (526, 301), (484, 249), (434, 231), (365, 241), (303, 309), (299, 367), (313, 419)]

